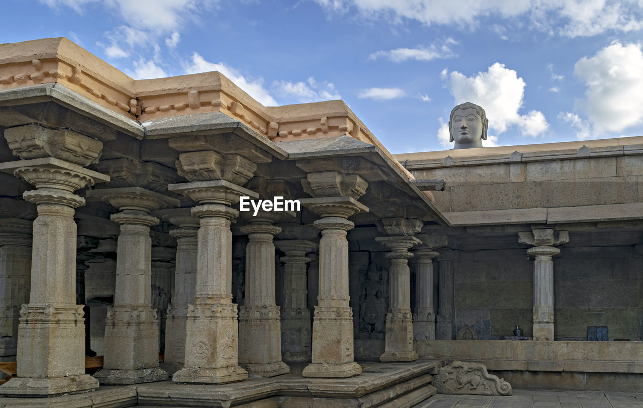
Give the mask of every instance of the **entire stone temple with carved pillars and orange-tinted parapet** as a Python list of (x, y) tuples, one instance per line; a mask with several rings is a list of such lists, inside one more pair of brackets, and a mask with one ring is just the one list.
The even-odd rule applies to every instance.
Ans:
[(394, 155), (341, 100), (0, 44), (0, 406), (410, 407), (461, 362), (643, 389), (643, 136), (464, 127)]

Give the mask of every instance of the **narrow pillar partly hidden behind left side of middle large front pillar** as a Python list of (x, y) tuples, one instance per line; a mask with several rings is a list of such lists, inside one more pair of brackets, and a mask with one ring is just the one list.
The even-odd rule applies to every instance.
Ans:
[(176, 266), (174, 293), (167, 308), (165, 321), (165, 364), (172, 365), (172, 373), (183, 368), (185, 361), (185, 325), (188, 304), (194, 302), (197, 272), (197, 236), (199, 218), (190, 214), (191, 209), (163, 210), (163, 219), (179, 228), (170, 230), (176, 238)]

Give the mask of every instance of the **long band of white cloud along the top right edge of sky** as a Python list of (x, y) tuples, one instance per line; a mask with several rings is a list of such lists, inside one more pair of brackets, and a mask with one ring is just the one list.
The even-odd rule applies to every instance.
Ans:
[[(431, 26), (440, 24), (471, 30), (484, 24), (485, 17), (526, 17), (534, 30), (565, 37), (584, 37), (608, 31), (632, 32), (643, 28), (638, 0), (316, 0), (332, 12), (359, 14), (386, 21), (415, 20)], [(487, 23), (485, 21), (485, 23)], [(507, 38), (504, 30), (498, 32)]]

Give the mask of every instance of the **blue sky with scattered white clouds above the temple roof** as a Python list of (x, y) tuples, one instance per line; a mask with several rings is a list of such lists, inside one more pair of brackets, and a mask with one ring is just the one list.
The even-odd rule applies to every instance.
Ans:
[[(264, 105), (343, 99), (392, 153), (643, 134), (643, 1), (5, 0), (1, 42), (68, 37), (136, 79), (218, 70)], [(446, 139), (446, 140), (445, 140)]]

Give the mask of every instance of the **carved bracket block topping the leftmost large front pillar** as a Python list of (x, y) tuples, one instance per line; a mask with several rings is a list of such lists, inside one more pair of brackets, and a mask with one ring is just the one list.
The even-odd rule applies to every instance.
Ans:
[(53, 157), (86, 166), (97, 163), (103, 143), (70, 129), (23, 125), (5, 130), (5, 139), (15, 156), (23, 160)]

